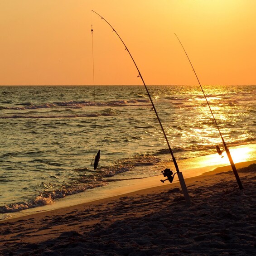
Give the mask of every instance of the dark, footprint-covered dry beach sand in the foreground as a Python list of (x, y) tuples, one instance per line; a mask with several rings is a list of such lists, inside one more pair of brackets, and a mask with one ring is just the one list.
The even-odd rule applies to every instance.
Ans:
[(5, 220), (0, 255), (256, 255), (256, 161), (236, 165), (243, 190), (230, 167), (186, 179), (191, 206), (176, 183)]

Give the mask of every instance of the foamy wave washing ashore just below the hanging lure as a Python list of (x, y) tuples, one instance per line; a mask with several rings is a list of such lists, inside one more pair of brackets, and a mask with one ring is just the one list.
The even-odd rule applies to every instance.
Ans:
[[(29, 208), (52, 204), (55, 202), (55, 199), (81, 193), (87, 189), (106, 186), (109, 182), (121, 180), (109, 179), (116, 176), (116, 174), (129, 172), (137, 166), (154, 165), (159, 161), (160, 159), (153, 155), (138, 155), (132, 158), (121, 159), (109, 167), (100, 167), (97, 171), (92, 171), (87, 168), (75, 169), (74, 171), (77, 172), (78, 177), (71, 178), (69, 180), (69, 184), (63, 185), (63, 188), (52, 189), (52, 186), (42, 182), (41, 187), (45, 188), (45, 190), (43, 190), (35, 198), (25, 202), (11, 203), (9, 205), (1, 206), (0, 213), (14, 213)], [(141, 178), (138, 177), (130, 179)]]

